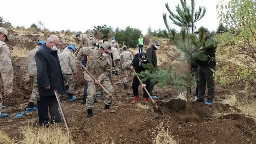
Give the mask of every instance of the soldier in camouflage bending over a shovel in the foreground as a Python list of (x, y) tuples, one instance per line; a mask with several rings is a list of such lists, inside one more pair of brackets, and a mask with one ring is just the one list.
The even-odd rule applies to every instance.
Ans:
[[(88, 97), (86, 99), (86, 108), (88, 109), (88, 117), (93, 117), (92, 108), (94, 107), (94, 98), (96, 96), (96, 90), (98, 83), (101, 83), (110, 93), (113, 93), (114, 89), (108, 78), (108, 74), (111, 73), (112, 59), (108, 53), (111, 53), (111, 45), (105, 42), (100, 48), (97, 47), (83, 47), (80, 52), (78, 52), (76, 60), (78, 63), (82, 60), (84, 56), (89, 56), (90, 60), (86, 65), (86, 69), (96, 78), (93, 80), (89, 74), (84, 72), (84, 78), (88, 80)], [(105, 94), (106, 95), (106, 94)], [(109, 109), (112, 99), (106, 95), (104, 101), (104, 109)]]

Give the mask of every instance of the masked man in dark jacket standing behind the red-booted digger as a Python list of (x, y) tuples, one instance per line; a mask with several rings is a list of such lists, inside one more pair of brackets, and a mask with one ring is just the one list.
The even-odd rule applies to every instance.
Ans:
[[(160, 46), (159, 42), (155, 40), (152, 45), (147, 49), (146, 54), (148, 56), (148, 59), (152, 62), (154, 67), (157, 67), (157, 53), (155, 51)], [(153, 88), (155, 86), (155, 82), (150, 82), (149, 86), (149, 94), (152, 96), (153, 99), (156, 99), (157, 96), (153, 95)]]

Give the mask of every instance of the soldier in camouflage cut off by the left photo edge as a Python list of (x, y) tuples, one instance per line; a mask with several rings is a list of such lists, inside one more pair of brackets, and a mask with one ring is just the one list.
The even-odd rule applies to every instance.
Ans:
[[(13, 88), (13, 68), (12, 61), (10, 59), (10, 49), (7, 44), (8, 42), (8, 31), (0, 27), (0, 90), (4, 90), (4, 96), (10, 95)], [(0, 118), (8, 117), (7, 113), (1, 113), (3, 106), (2, 94), (0, 93)]]

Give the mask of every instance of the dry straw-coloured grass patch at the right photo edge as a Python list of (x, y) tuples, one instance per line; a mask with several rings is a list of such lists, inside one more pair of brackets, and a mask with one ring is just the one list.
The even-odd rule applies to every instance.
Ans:
[(249, 99), (248, 95), (243, 96), (243, 99), (241, 99), (238, 94), (231, 94), (226, 96), (222, 103), (236, 106), (242, 114), (249, 115), (256, 121), (256, 100)]

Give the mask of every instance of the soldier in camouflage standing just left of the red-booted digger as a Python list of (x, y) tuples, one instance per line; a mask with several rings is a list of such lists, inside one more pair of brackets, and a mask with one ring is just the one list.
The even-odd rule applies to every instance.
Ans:
[(123, 52), (120, 54), (120, 66), (121, 69), (124, 72), (124, 90), (127, 89), (127, 82), (128, 82), (128, 76), (133, 77), (132, 71), (131, 71), (131, 64), (133, 60), (132, 53), (130, 51), (127, 51), (126, 45), (123, 45)]

